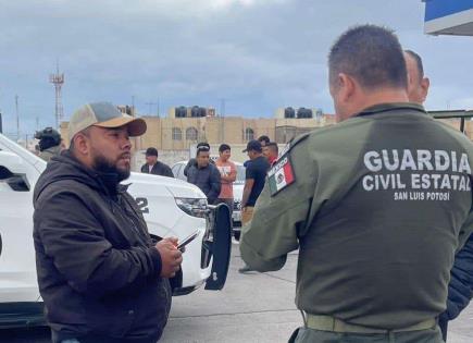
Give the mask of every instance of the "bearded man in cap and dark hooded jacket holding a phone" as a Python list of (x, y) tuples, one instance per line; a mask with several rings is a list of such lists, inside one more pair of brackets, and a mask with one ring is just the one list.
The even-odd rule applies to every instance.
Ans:
[(108, 102), (71, 118), (70, 148), (34, 192), (39, 293), (52, 342), (154, 343), (167, 321), (177, 238), (155, 243), (127, 186), (146, 122)]

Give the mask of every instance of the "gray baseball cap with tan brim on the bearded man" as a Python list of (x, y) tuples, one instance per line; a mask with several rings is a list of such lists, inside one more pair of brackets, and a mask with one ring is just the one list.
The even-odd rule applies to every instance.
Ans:
[(92, 125), (109, 128), (126, 125), (132, 137), (142, 135), (147, 128), (142, 119), (122, 113), (110, 102), (91, 102), (84, 105), (72, 114), (69, 122), (70, 138)]

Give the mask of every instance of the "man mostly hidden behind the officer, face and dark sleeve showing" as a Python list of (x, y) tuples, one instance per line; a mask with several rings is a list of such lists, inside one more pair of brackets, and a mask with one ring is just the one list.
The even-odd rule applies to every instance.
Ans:
[[(424, 75), (421, 57), (412, 50), (404, 50), (408, 68), (408, 97), (410, 102), (423, 105), (430, 87), (430, 79)], [(438, 318), (444, 341), (447, 342), (448, 321), (457, 318), (469, 305), (473, 295), (473, 235), (455, 256), (453, 268), (448, 285), (447, 309)]]

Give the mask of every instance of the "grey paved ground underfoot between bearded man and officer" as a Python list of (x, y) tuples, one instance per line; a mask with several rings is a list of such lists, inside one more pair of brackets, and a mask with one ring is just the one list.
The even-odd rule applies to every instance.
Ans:
[[(199, 290), (175, 297), (163, 343), (277, 343), (287, 342), (301, 323), (294, 305), (297, 255), (272, 273), (241, 275), (238, 247), (234, 245), (225, 290)], [(473, 305), (450, 324), (449, 343), (473, 342)], [(0, 331), (1, 343), (47, 343), (46, 329)]]

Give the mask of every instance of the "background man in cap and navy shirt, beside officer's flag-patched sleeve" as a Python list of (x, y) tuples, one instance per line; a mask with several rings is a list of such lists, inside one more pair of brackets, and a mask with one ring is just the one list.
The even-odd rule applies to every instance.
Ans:
[[(250, 162), (247, 163), (246, 168), (245, 187), (241, 198), (241, 225), (247, 225), (253, 218), (254, 205), (261, 191), (263, 191), (270, 162), (263, 156), (263, 148), (259, 140), (248, 142), (247, 148), (242, 152), (247, 152), (250, 158)], [(238, 269), (241, 273), (251, 270), (253, 269), (248, 267), (248, 265)]]

